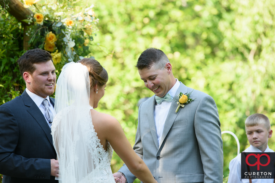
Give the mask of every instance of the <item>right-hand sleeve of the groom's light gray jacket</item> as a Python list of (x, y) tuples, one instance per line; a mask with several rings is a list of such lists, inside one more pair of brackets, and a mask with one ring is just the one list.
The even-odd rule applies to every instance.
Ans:
[(204, 183), (223, 181), (223, 142), (214, 99), (206, 95), (195, 113), (194, 128), (204, 170)]

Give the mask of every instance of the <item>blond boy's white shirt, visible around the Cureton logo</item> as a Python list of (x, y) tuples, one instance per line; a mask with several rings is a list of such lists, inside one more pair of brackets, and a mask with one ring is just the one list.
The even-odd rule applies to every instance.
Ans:
[[(250, 145), (245, 152), (262, 152), (256, 147)], [(267, 149), (264, 152), (274, 152), (272, 149)], [(229, 163), (229, 177), (227, 183), (249, 183), (249, 179), (241, 179), (241, 153), (237, 155)], [(273, 183), (274, 179), (251, 179), (252, 183)]]

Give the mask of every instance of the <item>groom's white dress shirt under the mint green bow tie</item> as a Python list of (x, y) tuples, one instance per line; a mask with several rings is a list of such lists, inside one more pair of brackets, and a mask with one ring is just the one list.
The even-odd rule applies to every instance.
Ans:
[[(178, 79), (176, 79), (176, 84), (168, 91), (168, 93), (174, 97), (177, 93), (177, 89), (180, 86), (180, 82)], [(174, 102), (174, 101), (172, 101)], [(155, 103), (155, 109), (154, 109), (154, 118), (156, 123), (156, 134), (157, 134), (157, 140), (160, 144), (161, 142), (161, 135), (164, 128), (164, 123), (167, 118), (170, 106), (172, 102), (167, 102), (166, 100), (163, 100), (160, 104)]]

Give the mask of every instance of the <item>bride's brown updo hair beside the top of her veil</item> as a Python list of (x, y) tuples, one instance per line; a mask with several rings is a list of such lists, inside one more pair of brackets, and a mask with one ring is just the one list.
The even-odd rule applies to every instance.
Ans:
[(83, 58), (78, 60), (77, 63), (85, 65), (89, 71), (91, 90), (95, 84), (103, 86), (108, 81), (107, 71), (93, 58)]

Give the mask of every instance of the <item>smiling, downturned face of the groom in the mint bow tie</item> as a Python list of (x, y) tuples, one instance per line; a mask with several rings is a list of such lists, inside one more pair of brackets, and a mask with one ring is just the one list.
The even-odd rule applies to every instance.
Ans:
[(163, 97), (173, 87), (171, 77), (169, 76), (171, 72), (170, 63), (167, 63), (164, 69), (157, 69), (153, 64), (150, 69), (139, 70), (140, 79), (158, 97)]

